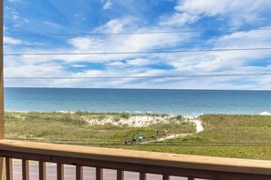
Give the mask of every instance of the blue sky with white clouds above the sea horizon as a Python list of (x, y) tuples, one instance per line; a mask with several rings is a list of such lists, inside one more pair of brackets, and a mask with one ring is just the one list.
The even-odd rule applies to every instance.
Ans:
[[(78, 78), (271, 73), (271, 50), (144, 53), (271, 47), (270, 9), (268, 0), (5, 0), (5, 86), (271, 90), (271, 75)], [(22, 55), (123, 52), (143, 53)]]

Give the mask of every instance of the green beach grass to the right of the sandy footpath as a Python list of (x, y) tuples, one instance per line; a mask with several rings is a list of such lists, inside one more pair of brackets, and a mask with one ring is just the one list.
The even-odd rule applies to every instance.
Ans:
[(131, 145), (124, 148), (271, 160), (271, 116), (202, 115), (201, 120), (204, 130), (196, 135), (168, 139), (163, 141), (164, 145)]

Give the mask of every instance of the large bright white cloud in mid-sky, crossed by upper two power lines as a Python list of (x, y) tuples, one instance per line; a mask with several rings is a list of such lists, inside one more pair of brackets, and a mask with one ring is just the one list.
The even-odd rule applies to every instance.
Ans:
[[(133, 21), (129, 21), (133, 18), (114, 19), (100, 25), (94, 33), (98, 30), (105, 33), (127, 32), (126, 26), (132, 26)], [(124, 28), (125, 27), (125, 28)], [(130, 32), (158, 32), (158, 31), (171, 31), (169, 28), (162, 27), (144, 27), (136, 28), (136, 30), (130, 30)], [(129, 30), (128, 30), (129, 32)], [(192, 34), (186, 34), (181, 36), (178, 34), (131, 34), (131, 35), (100, 35), (100, 36), (84, 36), (74, 37), (68, 40), (68, 44), (72, 45), (71, 50), (63, 50), (69, 52), (93, 52), (93, 53), (110, 53), (110, 52), (137, 52), (137, 51), (150, 51), (160, 48), (172, 48), (178, 45), (182, 45), (192, 38)], [(196, 35), (194, 35), (196, 37)], [(60, 50), (59, 50), (60, 51)], [(63, 52), (62, 51), (62, 52)], [(88, 62), (112, 62), (127, 59), (134, 59), (145, 56), (144, 54), (119, 54), (119, 55), (68, 55), (65, 56), (66, 61), (81, 61), (82, 58)], [(60, 58), (59, 55), (57, 55)], [(63, 59), (63, 57), (61, 58)]]

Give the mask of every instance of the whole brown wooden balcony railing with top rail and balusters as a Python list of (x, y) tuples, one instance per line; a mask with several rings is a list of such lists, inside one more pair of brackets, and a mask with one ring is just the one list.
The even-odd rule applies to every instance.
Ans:
[(123, 149), (55, 145), (0, 140), (0, 156), (5, 157), (6, 179), (13, 178), (12, 159), (22, 159), (22, 179), (29, 179), (29, 160), (38, 162), (39, 179), (46, 179), (46, 162), (57, 164), (57, 180), (64, 179), (64, 165), (76, 166), (76, 179), (83, 179), (83, 166), (96, 168), (96, 179), (103, 179), (102, 169), (117, 170), (116, 179), (123, 180), (124, 172), (162, 175), (168, 180), (172, 175), (203, 179), (271, 179), (271, 161), (178, 155)]

